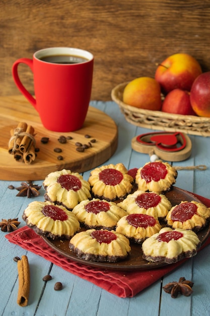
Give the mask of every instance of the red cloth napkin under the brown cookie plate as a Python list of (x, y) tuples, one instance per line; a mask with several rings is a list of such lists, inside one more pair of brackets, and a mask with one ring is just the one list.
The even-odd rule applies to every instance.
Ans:
[[(210, 207), (210, 200), (194, 194), (203, 204)], [(24, 226), (8, 235), (6, 238), (24, 249), (34, 252), (62, 269), (73, 273), (95, 285), (115, 294), (119, 297), (133, 297), (141, 292), (164, 275), (179, 267), (187, 259), (181, 260), (176, 264), (164, 266), (152, 270), (135, 271), (112, 271), (98, 269), (78, 264), (53, 250), (44, 240), (38, 236), (31, 228)], [(210, 238), (200, 248), (204, 248), (210, 243)]]

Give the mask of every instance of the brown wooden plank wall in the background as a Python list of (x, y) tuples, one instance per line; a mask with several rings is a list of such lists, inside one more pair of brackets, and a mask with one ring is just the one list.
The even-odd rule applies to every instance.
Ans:
[[(210, 70), (209, 0), (1, 0), (0, 95), (20, 94), (13, 62), (41, 48), (80, 47), (95, 56), (93, 100), (110, 100), (118, 83), (154, 77), (176, 52)], [(33, 77), (20, 66), (33, 93)]]

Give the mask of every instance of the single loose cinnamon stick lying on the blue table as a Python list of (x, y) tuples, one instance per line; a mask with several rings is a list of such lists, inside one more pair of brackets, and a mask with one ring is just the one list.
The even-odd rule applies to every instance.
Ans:
[(30, 269), (28, 257), (26, 255), (22, 255), (21, 260), (18, 260), (17, 264), (19, 279), (17, 303), (20, 306), (27, 306), (30, 291)]

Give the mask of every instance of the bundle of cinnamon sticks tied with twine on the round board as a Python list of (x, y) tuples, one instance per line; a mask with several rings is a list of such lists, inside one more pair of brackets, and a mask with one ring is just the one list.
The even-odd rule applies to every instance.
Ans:
[(25, 122), (21, 122), (10, 133), (9, 153), (14, 155), (17, 162), (30, 164), (36, 157), (34, 128)]

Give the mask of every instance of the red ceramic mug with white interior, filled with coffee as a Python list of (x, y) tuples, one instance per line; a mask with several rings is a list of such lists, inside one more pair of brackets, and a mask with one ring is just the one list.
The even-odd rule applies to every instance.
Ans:
[[(51, 131), (80, 129), (88, 112), (93, 79), (93, 55), (71, 47), (51, 47), (35, 52), (33, 60), (18, 59), (12, 68), (14, 81)], [(28, 65), (34, 77), (35, 98), (22, 84), (18, 65)]]

